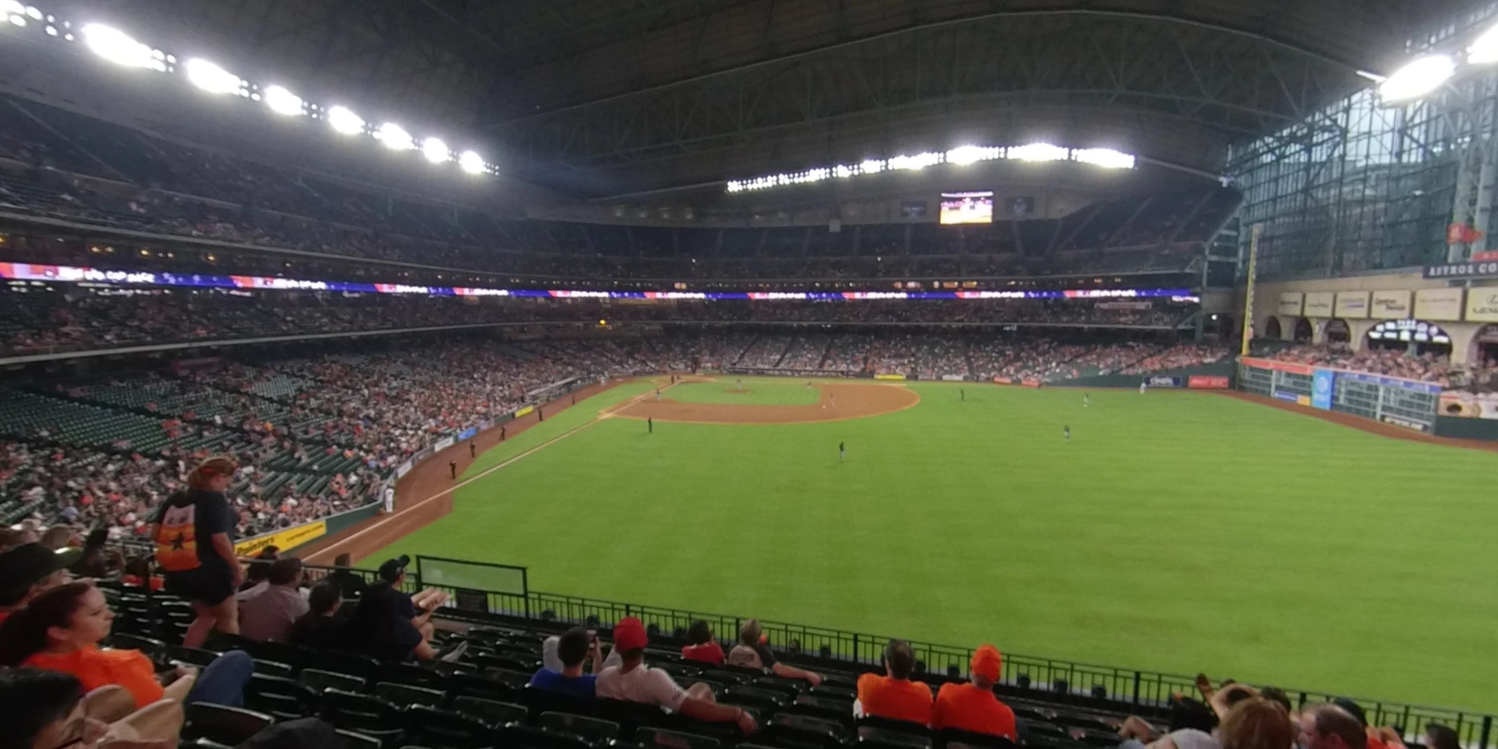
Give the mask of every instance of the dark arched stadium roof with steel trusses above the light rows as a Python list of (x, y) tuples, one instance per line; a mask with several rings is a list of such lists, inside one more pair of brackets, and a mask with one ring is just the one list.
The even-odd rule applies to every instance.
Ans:
[(1212, 172), (1458, 0), (94, 3), (604, 198), (1040, 138)]

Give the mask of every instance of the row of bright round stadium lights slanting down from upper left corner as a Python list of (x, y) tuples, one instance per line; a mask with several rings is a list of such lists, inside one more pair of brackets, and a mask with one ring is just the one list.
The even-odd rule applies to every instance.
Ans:
[(81, 43), (96, 57), (121, 66), (153, 70), (165, 75), (180, 75), (195, 88), (214, 96), (234, 96), (261, 102), (270, 111), (283, 117), (307, 117), (325, 121), (340, 135), (372, 138), (395, 151), (419, 151), (433, 163), (455, 162), (467, 174), (499, 174), (499, 168), (475, 150), (457, 153), (436, 136), (415, 138), (395, 123), (372, 124), (346, 105), (319, 105), (309, 102), (282, 84), (259, 85), (223, 66), (201, 57), (178, 60), (175, 54), (139, 42), (126, 31), (99, 22), (73, 24), (21, 0), (0, 0), (0, 36), (30, 34), (45, 36), (63, 43)]

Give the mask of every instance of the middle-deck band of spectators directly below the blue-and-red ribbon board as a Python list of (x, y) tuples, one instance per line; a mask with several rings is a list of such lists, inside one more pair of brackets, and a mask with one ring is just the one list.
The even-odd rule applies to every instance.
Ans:
[(1189, 307), (1091, 300), (683, 301), (499, 300), (294, 291), (0, 291), (0, 355), (517, 322), (825, 322), (1171, 328)]

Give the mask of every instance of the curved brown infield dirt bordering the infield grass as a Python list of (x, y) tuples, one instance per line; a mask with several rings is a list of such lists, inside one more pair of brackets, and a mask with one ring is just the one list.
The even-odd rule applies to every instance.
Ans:
[[(900, 385), (819, 382), (821, 400), (806, 406), (749, 406), (736, 403), (677, 403), (643, 400), (625, 406), (619, 416), (695, 424), (797, 424), (878, 416), (908, 409), (921, 401), (915, 391)], [(752, 392), (748, 389), (725, 392)]]

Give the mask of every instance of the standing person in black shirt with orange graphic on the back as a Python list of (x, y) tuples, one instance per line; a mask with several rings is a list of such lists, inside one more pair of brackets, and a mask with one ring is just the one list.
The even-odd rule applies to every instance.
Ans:
[(183, 637), (186, 647), (201, 647), (214, 629), (240, 634), (234, 590), (244, 571), (234, 556), (235, 515), (223, 499), (235, 470), (232, 458), (204, 460), (187, 473), (187, 490), (162, 503), (151, 526), (166, 592), (186, 598), (198, 614)]

